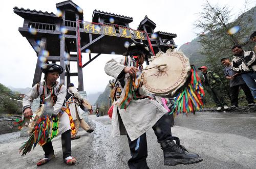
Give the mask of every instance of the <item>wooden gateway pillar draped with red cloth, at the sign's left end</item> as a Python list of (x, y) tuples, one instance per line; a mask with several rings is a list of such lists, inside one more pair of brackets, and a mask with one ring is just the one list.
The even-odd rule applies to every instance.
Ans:
[[(79, 20), (79, 15), (76, 13), (76, 30), (79, 27), (78, 20)], [(77, 35), (77, 31), (76, 31), (76, 57), (77, 57), (78, 91), (83, 91), (82, 67), (79, 66), (79, 47), (81, 49), (81, 46), (78, 45), (78, 35)], [(82, 57), (82, 55), (81, 55), (81, 57)]]

